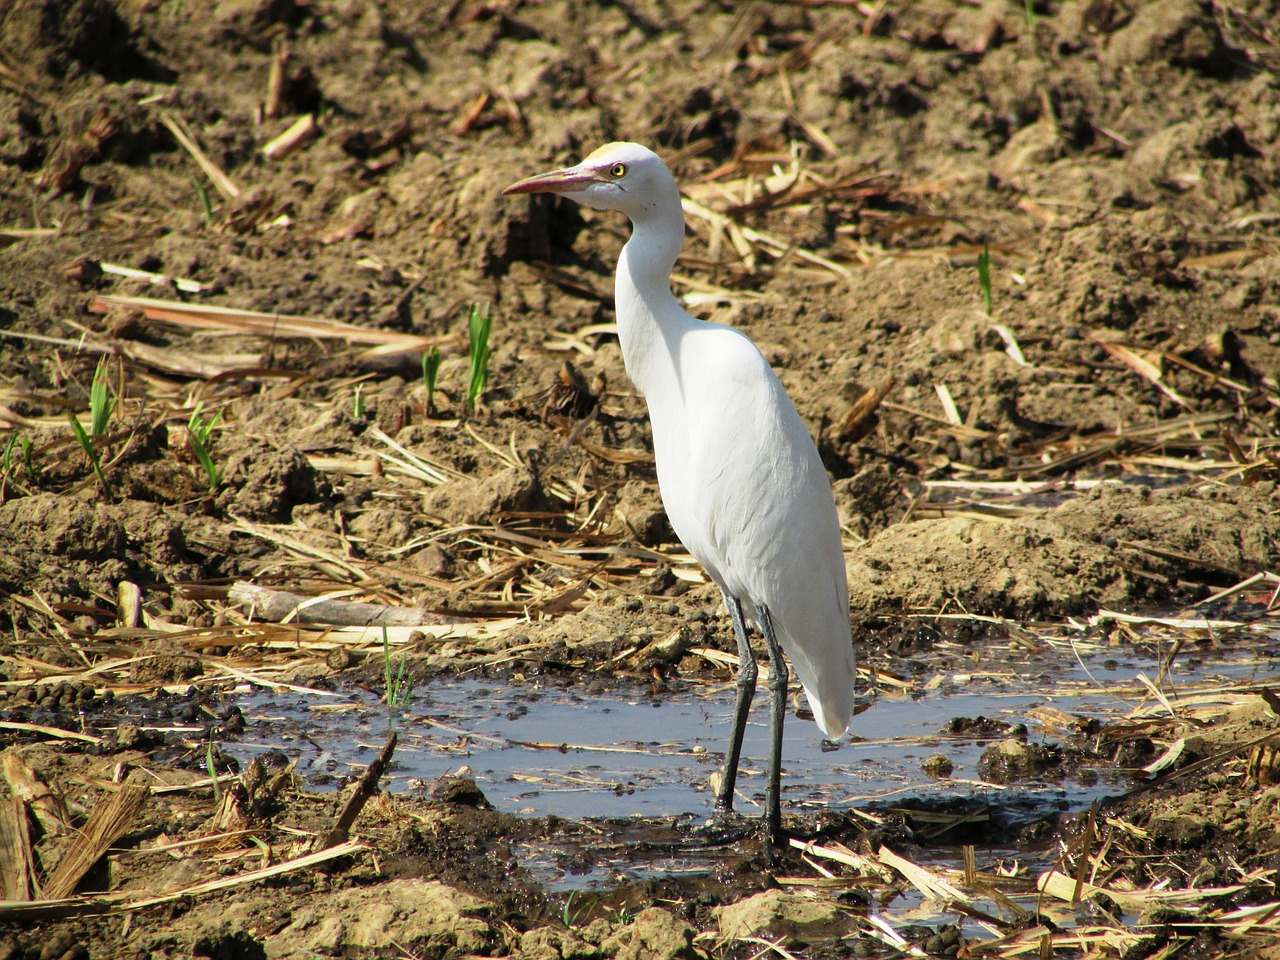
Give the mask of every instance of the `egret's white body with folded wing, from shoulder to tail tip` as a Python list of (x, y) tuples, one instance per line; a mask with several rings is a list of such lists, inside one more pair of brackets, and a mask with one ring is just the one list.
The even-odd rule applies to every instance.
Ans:
[[(650, 416), (672, 526), (749, 614), (768, 607), (819, 724), (838, 736), (854, 705), (849, 589), (831, 481), (804, 421), (756, 347), (701, 324), (678, 356), (678, 416)], [(678, 362), (678, 360), (677, 360)]]

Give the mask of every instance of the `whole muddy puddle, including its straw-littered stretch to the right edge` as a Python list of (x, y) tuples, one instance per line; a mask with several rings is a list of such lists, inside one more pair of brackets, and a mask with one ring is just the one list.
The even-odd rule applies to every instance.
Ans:
[[(1158, 678), (1171, 701), (1212, 695), (1267, 676), (1266, 664), (1280, 644), (1275, 635), (1260, 634), (1224, 640), (1217, 631), (1212, 644), (1181, 636), (1176, 643), (1178, 635), (1166, 631), (1120, 648), (1051, 639), (1038, 641), (1033, 650), (991, 641), (892, 664), (909, 686), (872, 691), (851, 735), (838, 744), (824, 742), (812, 722), (788, 721), (785, 809), (883, 812), (906, 801), (977, 800), (989, 804), (993, 819), (1007, 828), (1123, 794), (1144, 774), (1107, 760), (1069, 764), (1066, 773), (1050, 772), (1043, 780), (1010, 786), (982, 782), (978, 759), (998, 736), (950, 735), (947, 724), (957, 717), (987, 717), (1025, 723), (1033, 741), (1060, 741), (1061, 732), (1038, 724), (1036, 708), (1052, 707), (1102, 723), (1158, 712), (1164, 708), (1147, 692), (1142, 677)], [(689, 682), (660, 692), (595, 686), (439, 680), (417, 687), (406, 707), (393, 709), (365, 690), (330, 698), (243, 691), (238, 701), (250, 728), (224, 749), (242, 762), (282, 750), (296, 760), (311, 788), (325, 791), (360, 772), (388, 728), (394, 728), (399, 746), (384, 781), (392, 792), (425, 791), (436, 777), (468, 773), (506, 813), (573, 820), (636, 818), (635, 836), (614, 836), (623, 845), (644, 846), (653, 840), (652, 820), (641, 818), (705, 822), (732, 685)], [(767, 721), (767, 704), (758, 696), (739, 782), (742, 813), (759, 810)], [(924, 758), (936, 754), (951, 762), (950, 777), (931, 778), (923, 771)], [(664, 856), (662, 844), (659, 837), (649, 845), (649, 855), (628, 855), (623, 864), (608, 863), (607, 854), (595, 850), (593, 858), (603, 861), (580, 865), (572, 877), (557, 865), (564, 851), (541, 846), (526, 850), (521, 859), (549, 888), (712, 869), (713, 854), (699, 858), (685, 847), (678, 856)], [(938, 852), (937, 865), (948, 864), (948, 852)]]

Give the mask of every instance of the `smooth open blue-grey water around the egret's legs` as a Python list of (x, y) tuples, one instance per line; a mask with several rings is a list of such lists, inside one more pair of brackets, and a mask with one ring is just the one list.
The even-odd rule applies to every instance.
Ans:
[[(881, 696), (856, 718), (854, 736), (823, 741), (809, 722), (790, 719), (785, 800), (791, 809), (867, 803), (902, 791), (969, 791), (968, 783), (937, 783), (920, 762), (945, 753), (954, 777), (977, 778), (986, 741), (941, 733), (956, 716), (1020, 722), (1023, 712), (1048, 701), (1032, 691), (948, 691)], [(718, 768), (733, 691), (728, 685), (646, 694), (474, 680), (433, 682), (415, 691), (408, 709), (388, 709), (360, 691), (339, 703), (255, 694), (241, 708), (259, 721), (257, 737), (227, 749), (242, 758), (284, 750), (316, 788), (369, 763), (388, 723), (399, 732), (389, 787), (413, 790), (422, 781), (470, 768), (498, 809), (581, 819), (586, 817), (707, 815), (708, 778)], [(1073, 701), (1100, 712), (1106, 704)], [(768, 708), (756, 698), (744, 746), (739, 805), (753, 809), (763, 790)], [(1032, 787), (1034, 788), (1034, 787)], [(1056, 791), (1056, 787), (1053, 788)]]

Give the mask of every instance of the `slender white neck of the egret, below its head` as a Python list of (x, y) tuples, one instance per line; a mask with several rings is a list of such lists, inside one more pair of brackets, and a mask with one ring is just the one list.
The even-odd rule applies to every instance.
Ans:
[(680, 334), (694, 323), (671, 293), (671, 270), (685, 244), (680, 195), (673, 204), (658, 206), (632, 220), (614, 280), (622, 360), (644, 394), (668, 387)]

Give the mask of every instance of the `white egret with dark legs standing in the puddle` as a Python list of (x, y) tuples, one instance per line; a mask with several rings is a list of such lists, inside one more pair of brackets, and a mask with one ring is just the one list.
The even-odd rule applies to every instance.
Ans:
[(739, 330), (698, 320), (671, 293), (685, 214), (671, 170), (639, 143), (609, 143), (577, 166), (507, 187), (558, 193), (632, 225), (614, 287), (627, 374), (653, 422), (658, 486), (685, 548), (721, 589), (740, 666), (733, 728), (716, 799), (730, 813), (756, 666), (746, 621), (764, 636), (772, 699), (767, 841), (782, 838), (778, 796), (787, 668), (836, 739), (854, 710), (849, 585), (831, 480), (781, 381)]

